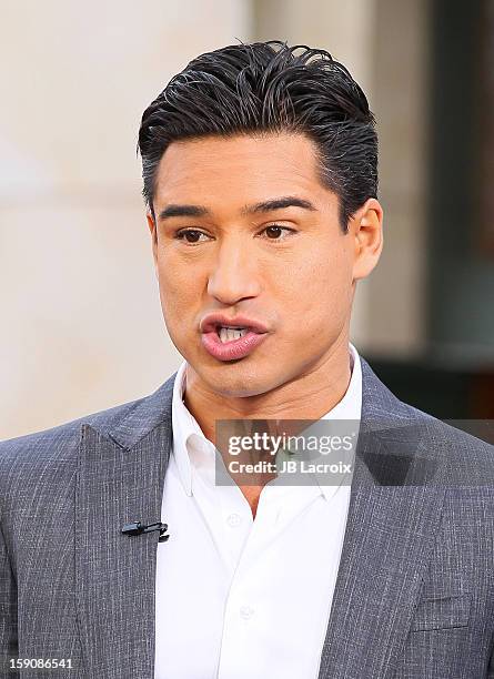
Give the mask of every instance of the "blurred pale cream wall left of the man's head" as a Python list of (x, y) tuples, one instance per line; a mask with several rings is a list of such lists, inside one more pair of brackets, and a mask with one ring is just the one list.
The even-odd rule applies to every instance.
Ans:
[(249, 40), (246, 0), (2, 2), (0, 438), (154, 391), (164, 328), (141, 200), (143, 109)]

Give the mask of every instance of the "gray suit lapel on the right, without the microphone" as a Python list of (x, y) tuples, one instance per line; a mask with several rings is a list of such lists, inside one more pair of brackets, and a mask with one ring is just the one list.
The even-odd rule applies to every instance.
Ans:
[[(384, 679), (407, 635), (441, 519), (445, 488), (417, 458), (417, 423), (363, 365), (361, 433), (320, 679)], [(372, 412), (381, 404), (380, 416)]]

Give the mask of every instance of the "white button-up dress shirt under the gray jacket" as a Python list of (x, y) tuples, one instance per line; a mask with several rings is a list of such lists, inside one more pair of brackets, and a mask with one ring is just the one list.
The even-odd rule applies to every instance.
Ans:
[[(360, 422), (362, 372), (322, 419)], [(158, 545), (155, 679), (316, 679), (340, 565), (350, 484), (264, 486), (255, 519), (174, 382), (173, 446)], [(357, 432), (356, 432), (357, 436)], [(356, 445), (356, 437), (355, 437)], [(218, 457), (216, 457), (218, 456)]]

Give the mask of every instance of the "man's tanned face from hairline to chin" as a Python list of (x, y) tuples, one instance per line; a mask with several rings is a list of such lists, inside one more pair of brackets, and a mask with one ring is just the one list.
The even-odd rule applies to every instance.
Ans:
[[(280, 199), (291, 200), (268, 204)], [(304, 206), (289, 204), (296, 201)], [(342, 232), (337, 196), (320, 183), (306, 136), (172, 143), (158, 169), (154, 214), (167, 328), (205, 388), (266, 394), (347, 344), (355, 236)], [(202, 343), (212, 312), (246, 316), (268, 334), (242, 358), (218, 358)]]

